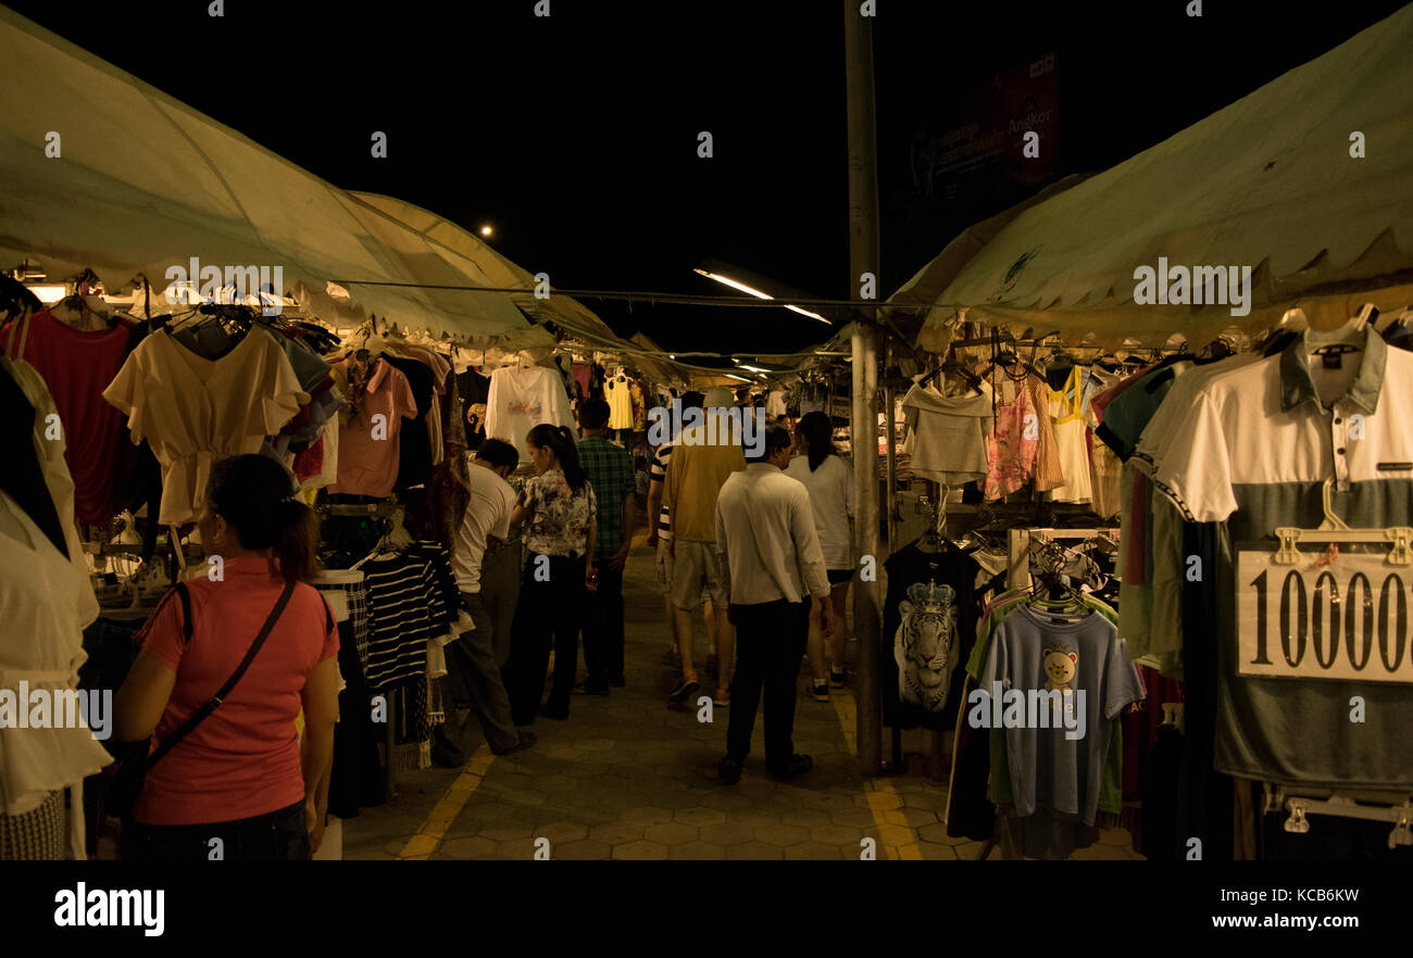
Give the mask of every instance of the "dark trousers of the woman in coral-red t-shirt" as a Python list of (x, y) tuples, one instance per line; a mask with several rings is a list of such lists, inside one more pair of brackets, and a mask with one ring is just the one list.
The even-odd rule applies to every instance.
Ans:
[[(219, 846), (211, 839), (219, 838)], [(144, 825), (123, 822), (122, 856), (129, 862), (205, 862), (215, 849), (226, 862), (304, 862), (309, 832), (304, 803), (254, 818), (211, 825)]]

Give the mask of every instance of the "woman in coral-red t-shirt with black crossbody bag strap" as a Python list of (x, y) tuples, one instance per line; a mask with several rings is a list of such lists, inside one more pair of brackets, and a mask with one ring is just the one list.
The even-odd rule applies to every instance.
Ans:
[(290, 472), (261, 455), (212, 469), (196, 523), (206, 565), (168, 592), (143, 626), (143, 651), (114, 702), (117, 738), (151, 736), (160, 746), (240, 677), (150, 764), (123, 824), (123, 858), (205, 861), (212, 838), (222, 839), (227, 861), (307, 859), (318, 851), (333, 764), (339, 632), (308, 584), (317, 572), (314, 511), (294, 493)]

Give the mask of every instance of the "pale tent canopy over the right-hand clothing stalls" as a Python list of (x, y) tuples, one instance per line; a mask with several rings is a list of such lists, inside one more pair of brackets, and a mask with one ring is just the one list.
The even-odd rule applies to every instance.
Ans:
[[(974, 227), (893, 301), (934, 304), (934, 328), (965, 309), (1037, 332), (1190, 342), (1269, 326), (1297, 305), (1316, 325), (1364, 301), (1402, 308), (1413, 301), (1410, 47), (1413, 6), (1150, 150)], [(1135, 302), (1135, 270), (1157, 270), (1159, 257), (1170, 270), (1251, 267), (1249, 315), (1231, 302)]]

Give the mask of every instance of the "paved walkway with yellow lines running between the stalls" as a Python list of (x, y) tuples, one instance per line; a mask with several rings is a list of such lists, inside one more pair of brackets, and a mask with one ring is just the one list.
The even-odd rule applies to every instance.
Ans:
[[(721, 786), (726, 715), (706, 723), (697, 705), (667, 701), (675, 675), (660, 664), (668, 633), (642, 533), (623, 592), (625, 688), (577, 695), (568, 722), (540, 718), (538, 743), (513, 756), (493, 757), (472, 721), (468, 767), (404, 774), (396, 798), (345, 822), (343, 858), (858, 859), (870, 848), (879, 859), (976, 856), (979, 844), (947, 836), (947, 788), (924, 777), (927, 763), (914, 762), (916, 774), (859, 776), (848, 691), (797, 704), (796, 749), (814, 756), (812, 771), (788, 783), (766, 774), (757, 715), (740, 783)], [(705, 674), (704, 685), (709, 694)], [(1075, 858), (1137, 858), (1128, 842), (1128, 832), (1105, 832)]]

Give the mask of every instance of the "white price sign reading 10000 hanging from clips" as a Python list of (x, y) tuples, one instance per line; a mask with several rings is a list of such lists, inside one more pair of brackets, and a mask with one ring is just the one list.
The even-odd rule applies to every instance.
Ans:
[(1282, 565), (1272, 547), (1238, 552), (1236, 671), (1413, 684), (1413, 565), (1389, 562), (1388, 550), (1323, 555)]

